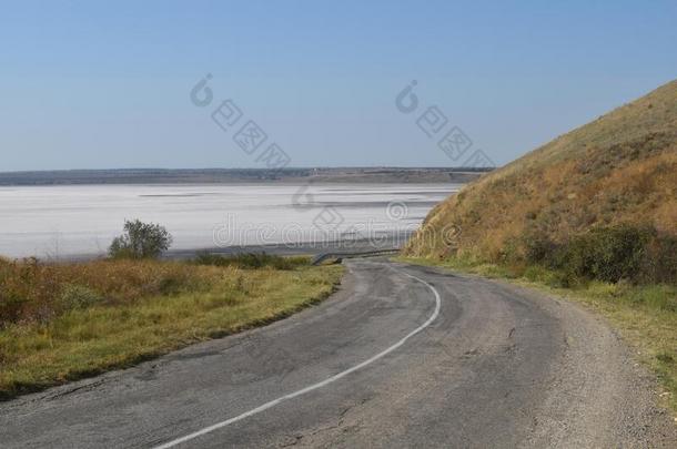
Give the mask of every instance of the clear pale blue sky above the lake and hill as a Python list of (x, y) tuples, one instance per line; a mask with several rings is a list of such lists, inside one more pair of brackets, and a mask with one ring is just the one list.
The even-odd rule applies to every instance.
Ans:
[(1, 7), (0, 171), (257, 166), (210, 118), (229, 98), (295, 166), (454, 165), (395, 109), (414, 79), (503, 164), (677, 78), (674, 0)]

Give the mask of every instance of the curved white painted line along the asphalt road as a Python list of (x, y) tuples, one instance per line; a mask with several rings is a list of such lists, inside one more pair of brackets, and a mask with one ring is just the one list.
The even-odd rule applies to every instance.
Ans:
[(267, 410), (269, 408), (275, 407), (276, 405), (279, 405), (279, 404), (281, 404), (281, 402), (285, 401), (285, 400), (293, 399), (293, 398), (295, 398), (297, 396), (302, 396), (302, 395), (305, 395), (306, 392), (310, 392), (310, 391), (316, 390), (319, 388), (325, 387), (325, 386), (327, 386), (327, 385), (330, 385), (330, 384), (332, 384), (332, 382), (334, 382), (334, 381), (336, 381), (336, 380), (338, 380), (338, 379), (341, 379), (341, 378), (343, 378), (343, 377), (345, 377), (345, 376), (347, 376), (347, 375), (350, 375), (352, 373), (355, 373), (358, 369), (364, 368), (367, 365), (373, 364), (374, 361), (378, 360), (380, 358), (388, 355), (390, 353), (394, 351), (395, 349), (397, 349), (398, 347), (404, 345), (406, 343), (406, 340), (412, 338), (414, 335), (418, 334), (421, 330), (423, 330), (426, 327), (428, 327), (435, 320), (435, 318), (437, 318), (437, 315), (439, 315), (439, 308), (442, 307), (442, 299), (439, 298), (439, 293), (437, 293), (435, 287), (433, 287), (431, 284), (426, 283), (425, 280), (423, 280), (423, 279), (421, 279), (421, 278), (418, 278), (416, 276), (413, 276), (413, 275), (411, 275), (408, 273), (404, 273), (404, 272), (400, 272), (400, 271), (396, 271), (396, 272), (398, 272), (398, 273), (401, 273), (401, 274), (403, 274), (405, 276), (408, 276), (412, 279), (418, 280), (420, 283), (422, 283), (426, 287), (428, 287), (431, 289), (431, 292), (433, 292), (433, 294), (435, 295), (435, 312), (433, 313), (433, 315), (431, 315), (431, 317), (424, 324), (422, 324), (421, 326), (418, 326), (417, 328), (415, 328), (414, 330), (408, 333), (404, 338), (402, 338), (400, 341), (397, 341), (393, 346), (388, 347), (387, 349), (382, 350), (381, 353), (376, 354), (372, 358), (370, 358), (367, 360), (364, 360), (360, 365), (355, 365), (354, 367), (348, 368), (345, 371), (341, 371), (341, 373), (338, 373), (338, 374), (336, 374), (336, 375), (334, 375), (334, 376), (332, 376), (332, 377), (330, 377), (330, 378), (327, 378), (327, 379), (325, 379), (325, 380), (323, 380), (321, 382), (313, 384), (313, 385), (311, 385), (309, 387), (305, 387), (303, 389), (300, 389), (297, 391), (294, 391), (294, 392), (291, 392), (289, 395), (282, 396), (282, 397), (280, 397), (277, 399), (273, 399), (270, 402), (265, 402), (264, 405), (262, 405), (260, 407), (256, 407), (256, 408), (254, 408), (254, 409), (252, 409), (250, 411), (245, 411), (244, 414), (239, 415), (239, 416), (236, 416), (234, 418), (226, 419), (225, 421), (221, 421), (221, 422), (218, 422), (215, 425), (205, 427), (204, 429), (198, 430), (196, 432), (189, 433), (189, 435), (186, 435), (184, 437), (181, 437), (181, 438), (178, 438), (175, 440), (165, 442), (164, 445), (155, 447), (155, 449), (172, 448), (174, 446), (178, 446), (178, 445), (181, 445), (183, 442), (190, 441), (190, 440), (195, 439), (198, 437), (201, 437), (203, 435), (213, 432), (214, 430), (221, 429), (222, 427), (230, 426), (233, 422), (241, 421), (244, 418), (249, 418), (251, 416), (257, 415), (257, 414), (260, 414), (260, 412), (262, 412), (264, 410)]

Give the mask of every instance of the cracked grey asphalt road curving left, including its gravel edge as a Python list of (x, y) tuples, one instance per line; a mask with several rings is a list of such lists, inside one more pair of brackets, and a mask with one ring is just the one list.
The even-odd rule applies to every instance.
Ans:
[(265, 328), (0, 404), (0, 447), (677, 447), (578, 306), (381, 259)]

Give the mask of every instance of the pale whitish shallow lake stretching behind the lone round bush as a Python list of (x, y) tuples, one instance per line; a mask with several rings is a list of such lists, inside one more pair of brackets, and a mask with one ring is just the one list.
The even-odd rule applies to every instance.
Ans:
[(0, 254), (104, 254), (124, 220), (160, 223), (174, 249), (414, 229), (458, 184), (78, 185), (0, 187)]

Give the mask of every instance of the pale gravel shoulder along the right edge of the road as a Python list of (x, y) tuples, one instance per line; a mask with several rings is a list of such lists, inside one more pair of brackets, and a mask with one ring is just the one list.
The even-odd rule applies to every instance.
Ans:
[[(524, 279), (487, 278), (423, 261), (406, 263), (494, 283), (562, 320), (566, 351), (553, 370), (540, 418), (534, 420), (529, 431), (529, 446), (604, 447), (609, 441), (634, 441), (674, 447), (677, 442), (677, 417), (661, 400), (666, 396), (664, 386), (641, 364), (637, 347), (588, 302)], [(598, 426), (585, 421), (590, 416), (599, 420)], [(612, 425), (604, 426), (604, 421)]]

